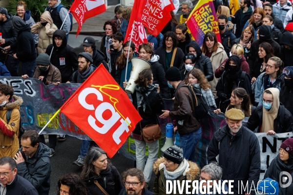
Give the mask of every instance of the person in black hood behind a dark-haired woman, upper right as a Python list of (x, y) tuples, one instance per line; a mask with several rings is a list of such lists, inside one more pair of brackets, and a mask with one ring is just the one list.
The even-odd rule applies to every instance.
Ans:
[(262, 42), (267, 42), (272, 45), (272, 48), (274, 50), (274, 54), (276, 57), (281, 56), (281, 46), (272, 39), (272, 28), (271, 26), (268, 25), (263, 25), (259, 28), (259, 39), (253, 41), (251, 43), (251, 51), (248, 56), (248, 64), (249, 64), (249, 69), (250, 69), (250, 74), (251, 71), (253, 70), (253, 65), (256, 60), (256, 57), (258, 56), (258, 48), (259, 44)]

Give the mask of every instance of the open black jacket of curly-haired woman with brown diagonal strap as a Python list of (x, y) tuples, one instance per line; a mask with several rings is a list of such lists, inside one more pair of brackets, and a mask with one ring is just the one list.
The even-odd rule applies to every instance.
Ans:
[[(172, 49), (171, 53), (173, 55), (174, 48)], [(165, 73), (167, 71), (166, 67), (166, 47), (160, 46), (157, 51), (155, 52), (156, 55), (160, 57), (159, 63), (163, 65), (163, 68), (165, 70)], [(184, 59), (184, 53), (180, 48), (177, 48), (177, 52), (175, 54), (175, 59), (174, 59), (174, 64), (173, 66), (177, 67), (180, 69), (180, 66), (182, 64), (182, 61)]]

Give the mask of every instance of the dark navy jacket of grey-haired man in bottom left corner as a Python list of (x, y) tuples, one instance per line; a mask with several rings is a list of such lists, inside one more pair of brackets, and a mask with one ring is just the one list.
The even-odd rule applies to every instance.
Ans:
[(16, 174), (11, 184), (6, 184), (6, 195), (39, 195), (36, 188), (22, 176)]

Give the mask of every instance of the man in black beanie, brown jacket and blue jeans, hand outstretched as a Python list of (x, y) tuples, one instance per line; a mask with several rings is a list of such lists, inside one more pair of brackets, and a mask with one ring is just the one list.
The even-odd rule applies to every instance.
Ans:
[[(163, 110), (160, 118), (170, 117), (176, 119), (177, 126), (174, 128), (180, 134), (179, 146), (184, 151), (184, 157), (194, 162), (194, 151), (197, 142), (201, 138), (201, 126), (198, 120), (193, 117), (194, 102), (192, 95), (184, 81), (181, 81), (181, 73), (177, 67), (170, 67), (166, 71), (167, 84), (175, 88), (174, 111)], [(177, 89), (178, 88), (178, 89)]]

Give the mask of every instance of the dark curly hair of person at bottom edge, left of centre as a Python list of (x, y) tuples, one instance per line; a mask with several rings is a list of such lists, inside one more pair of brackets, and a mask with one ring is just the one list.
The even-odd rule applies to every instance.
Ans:
[(76, 174), (63, 176), (58, 181), (57, 195), (60, 195), (61, 184), (69, 187), (69, 195), (87, 195), (86, 185), (82, 178)]

